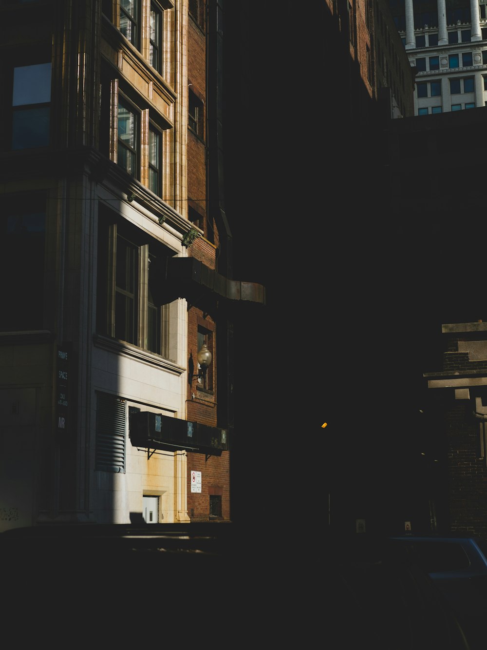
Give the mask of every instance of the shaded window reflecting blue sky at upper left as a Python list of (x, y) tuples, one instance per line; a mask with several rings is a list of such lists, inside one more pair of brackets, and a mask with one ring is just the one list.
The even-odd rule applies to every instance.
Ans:
[(14, 68), (12, 149), (49, 145), (51, 63)]

